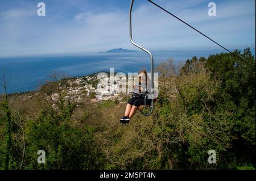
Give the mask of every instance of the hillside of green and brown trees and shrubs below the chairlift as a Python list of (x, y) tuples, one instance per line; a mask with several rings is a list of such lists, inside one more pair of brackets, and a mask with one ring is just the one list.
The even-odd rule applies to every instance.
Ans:
[(249, 48), (233, 53), (243, 61), (221, 53), (179, 71), (171, 60), (158, 65), (154, 113), (125, 125), (125, 96), (92, 102), (81, 90), (78, 99), (65, 79), (3, 95), (0, 169), (255, 169), (255, 58)]

